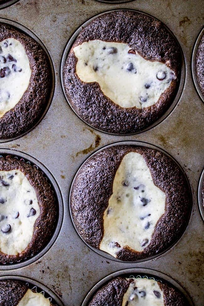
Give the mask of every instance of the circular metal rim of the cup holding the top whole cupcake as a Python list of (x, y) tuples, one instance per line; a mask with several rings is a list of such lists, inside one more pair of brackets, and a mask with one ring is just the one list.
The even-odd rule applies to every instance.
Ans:
[[(130, 10), (130, 9), (129, 9)], [(111, 11), (117, 11), (117, 9), (113, 9)], [(70, 49), (72, 48), (72, 45), (73, 43), (75, 42), (77, 36), (79, 35), (79, 33), (81, 32), (81, 30), (86, 27), (91, 21), (93, 21), (94, 19), (96, 19), (97, 17), (99, 16), (102, 16), (104, 15), (105, 13), (110, 13), (111, 11), (107, 11), (107, 12), (104, 12), (104, 13), (101, 13), (101, 14), (98, 14), (94, 17), (92, 17), (91, 19), (87, 20), (86, 22), (84, 22), (79, 28), (78, 30), (75, 31), (75, 33), (72, 35), (72, 37), (70, 38), (70, 40), (67, 42), (67, 45), (65, 47), (65, 50), (64, 50), (64, 53), (62, 55), (62, 62), (61, 62), (61, 83), (62, 83), (62, 89), (63, 89), (63, 92), (64, 92), (64, 95), (65, 95), (65, 98), (67, 99), (67, 102), (69, 104), (69, 106), (72, 108), (72, 110), (74, 111), (74, 113), (82, 120), (84, 121), (76, 112), (75, 110), (73, 109), (72, 105), (70, 104), (69, 102), (69, 99), (67, 98), (66, 96), (66, 93), (65, 93), (65, 88), (64, 88), (64, 83), (63, 83), (63, 69), (64, 69), (64, 65), (65, 65), (65, 62), (66, 62), (66, 59), (67, 59), (67, 56), (69, 54), (69, 51)], [(144, 12), (140, 12), (138, 10), (132, 10), (132, 11), (135, 11), (137, 13), (141, 13), (141, 14), (144, 14), (144, 15), (147, 15), (147, 16), (150, 16), (150, 17), (153, 17), (152, 15), (149, 15), (147, 13), (144, 13)], [(155, 17), (153, 17), (155, 18)], [(155, 18), (157, 19), (157, 18)], [(158, 20), (158, 19), (157, 19)], [(158, 20), (160, 21), (160, 20)], [(165, 25), (165, 24), (164, 24)], [(178, 42), (178, 40), (176, 39), (176, 37), (174, 36), (174, 34), (169, 30), (169, 28), (165, 25), (165, 28), (169, 31), (169, 33), (174, 37), (174, 39), (177, 41), (179, 47), (180, 47), (180, 44)], [(164, 119), (166, 119), (166, 117), (168, 115), (170, 115), (170, 113), (174, 110), (175, 106), (177, 105), (179, 99), (180, 99), (180, 96), (182, 94), (182, 91), (183, 91), (183, 87), (184, 87), (184, 83), (185, 83), (185, 59), (184, 59), (184, 54), (183, 54), (183, 51), (180, 47), (180, 52), (181, 52), (181, 71), (180, 71), (180, 84), (178, 86), (178, 89), (177, 89), (177, 93), (175, 95), (175, 98), (174, 100), (172, 101), (172, 104), (169, 105), (169, 108), (165, 111), (165, 113), (159, 117), (155, 122), (153, 122), (150, 126), (148, 126), (147, 128), (143, 129), (142, 131), (140, 132), (134, 132), (134, 133), (131, 133), (131, 134), (125, 134), (125, 136), (128, 136), (128, 135), (133, 135), (133, 134), (139, 134), (139, 133), (142, 133), (142, 132), (145, 132), (145, 131), (148, 131), (150, 130), (151, 128), (153, 128), (154, 126), (157, 126), (159, 123), (161, 123), (162, 121), (164, 121)], [(84, 121), (85, 122), (85, 121)], [(91, 126), (89, 123), (85, 122), (87, 125), (89, 125), (90, 127), (94, 128), (93, 126)], [(122, 135), (122, 134), (114, 134), (114, 133), (109, 133), (109, 132), (105, 132), (105, 131), (102, 131), (102, 130), (99, 130), (99, 129), (96, 129), (94, 128), (95, 130), (98, 130), (100, 132), (103, 132), (103, 133), (107, 133), (107, 134), (112, 134), (112, 135)]]

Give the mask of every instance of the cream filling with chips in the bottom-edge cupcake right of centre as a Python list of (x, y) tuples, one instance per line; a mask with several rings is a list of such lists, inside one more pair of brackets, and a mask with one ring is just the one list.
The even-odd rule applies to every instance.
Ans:
[(127, 278), (131, 280), (122, 306), (164, 306), (164, 296), (158, 282), (147, 278)]

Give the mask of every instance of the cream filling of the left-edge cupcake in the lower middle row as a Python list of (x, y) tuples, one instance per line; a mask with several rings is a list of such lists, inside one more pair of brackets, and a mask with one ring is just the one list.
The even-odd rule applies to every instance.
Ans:
[(40, 216), (37, 195), (20, 170), (0, 171), (0, 251), (16, 255), (30, 243)]

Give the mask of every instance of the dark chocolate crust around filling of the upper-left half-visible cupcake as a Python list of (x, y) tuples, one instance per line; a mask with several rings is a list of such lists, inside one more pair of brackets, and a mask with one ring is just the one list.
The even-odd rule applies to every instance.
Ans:
[(29, 131), (45, 111), (51, 93), (51, 68), (41, 46), (30, 36), (0, 23), (0, 41), (14, 38), (24, 46), (32, 70), (30, 83), (13, 109), (0, 118), (0, 138), (17, 137)]

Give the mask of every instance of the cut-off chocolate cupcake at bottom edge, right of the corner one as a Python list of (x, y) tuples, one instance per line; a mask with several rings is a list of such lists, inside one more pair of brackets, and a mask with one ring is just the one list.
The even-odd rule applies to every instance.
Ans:
[(164, 282), (117, 277), (102, 287), (89, 306), (188, 306), (185, 297)]

